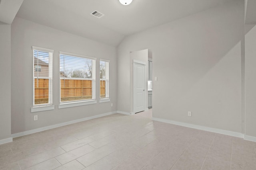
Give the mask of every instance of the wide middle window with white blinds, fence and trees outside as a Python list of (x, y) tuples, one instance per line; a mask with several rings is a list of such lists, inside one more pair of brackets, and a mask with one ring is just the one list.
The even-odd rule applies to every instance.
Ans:
[(60, 52), (60, 102), (95, 99), (93, 57)]

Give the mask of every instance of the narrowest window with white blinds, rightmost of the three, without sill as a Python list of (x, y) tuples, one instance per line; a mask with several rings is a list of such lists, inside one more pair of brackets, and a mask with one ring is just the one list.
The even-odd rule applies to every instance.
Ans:
[(100, 99), (109, 98), (109, 61), (100, 59)]

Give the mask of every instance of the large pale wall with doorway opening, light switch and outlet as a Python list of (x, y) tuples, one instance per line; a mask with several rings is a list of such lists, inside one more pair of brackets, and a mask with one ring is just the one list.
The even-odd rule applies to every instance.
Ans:
[(153, 117), (242, 133), (243, 33), (244, 2), (234, 0), (126, 37), (118, 46), (118, 110), (131, 112), (129, 52), (150, 49)]

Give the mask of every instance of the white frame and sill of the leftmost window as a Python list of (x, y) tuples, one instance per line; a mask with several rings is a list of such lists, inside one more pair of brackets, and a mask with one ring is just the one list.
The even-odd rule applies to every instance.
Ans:
[[(52, 62), (53, 62), (54, 50), (32, 46), (32, 51), (33, 51), (33, 106), (31, 108), (31, 112), (52, 110), (52, 109), (54, 109), (53, 100), (52, 100), (52, 96), (53, 96), (53, 94), (52, 94)], [(49, 62), (48, 63), (48, 77), (34, 76), (34, 74), (35, 74), (34, 51), (48, 53), (48, 62)], [(35, 78), (48, 79), (48, 103), (46, 103), (46, 104), (35, 104)]]

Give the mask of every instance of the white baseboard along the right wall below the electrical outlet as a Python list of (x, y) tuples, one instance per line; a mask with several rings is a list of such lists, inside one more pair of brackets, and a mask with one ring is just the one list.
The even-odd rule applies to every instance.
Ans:
[(203, 130), (203, 131), (220, 133), (220, 134), (223, 134), (223, 135), (229, 135), (229, 136), (244, 138), (244, 134), (239, 133), (239, 132), (226, 131), (226, 130), (216, 129), (216, 128), (212, 128), (212, 127), (193, 125), (193, 124), (189, 124), (189, 123), (183, 123), (183, 122), (172, 121), (172, 120), (167, 120), (167, 119), (160, 119), (160, 118), (155, 118), (155, 117), (152, 117), (152, 120), (161, 121), (161, 122), (164, 122), (164, 123), (170, 123), (170, 124), (174, 124), (174, 125), (180, 125), (180, 126), (184, 126), (184, 127), (190, 127), (190, 128), (193, 128), (193, 129), (199, 129), (199, 130)]

